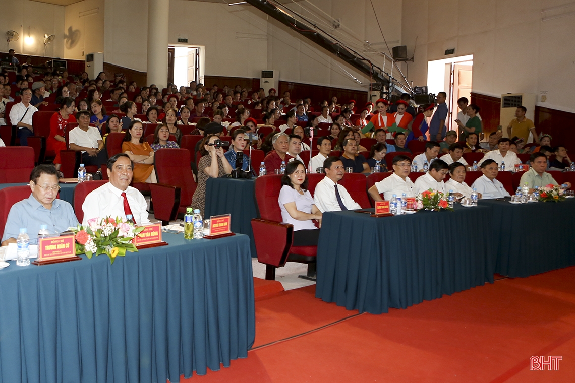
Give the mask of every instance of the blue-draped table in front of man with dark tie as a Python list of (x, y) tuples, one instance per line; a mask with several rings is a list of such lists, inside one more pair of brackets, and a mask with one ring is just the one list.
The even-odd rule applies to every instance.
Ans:
[(371, 314), (493, 283), (490, 207), (374, 218), (326, 212), (316, 297)]

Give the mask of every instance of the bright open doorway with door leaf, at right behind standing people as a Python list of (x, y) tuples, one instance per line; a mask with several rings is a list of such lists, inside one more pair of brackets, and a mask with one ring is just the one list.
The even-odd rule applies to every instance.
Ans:
[(427, 63), (427, 89), (430, 93), (447, 93), (449, 107), (447, 130), (457, 131), (457, 100), (461, 97), (471, 100), (471, 78), (473, 77), (473, 55), (429, 61)]

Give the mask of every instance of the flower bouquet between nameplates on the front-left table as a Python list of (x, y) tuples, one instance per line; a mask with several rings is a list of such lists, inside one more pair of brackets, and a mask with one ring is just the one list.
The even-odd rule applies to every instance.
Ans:
[(76, 234), (76, 254), (86, 253), (88, 258), (95, 254), (107, 254), (110, 264), (117, 256), (124, 257), (126, 252), (137, 252), (132, 239), (144, 227), (135, 227), (132, 221), (116, 217), (92, 218), (87, 226), (79, 225), (73, 229)]

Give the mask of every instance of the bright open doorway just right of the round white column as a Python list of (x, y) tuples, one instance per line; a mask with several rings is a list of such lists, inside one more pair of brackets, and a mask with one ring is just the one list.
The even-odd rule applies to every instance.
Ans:
[(200, 80), (200, 47), (168, 46), (168, 82), (179, 87)]

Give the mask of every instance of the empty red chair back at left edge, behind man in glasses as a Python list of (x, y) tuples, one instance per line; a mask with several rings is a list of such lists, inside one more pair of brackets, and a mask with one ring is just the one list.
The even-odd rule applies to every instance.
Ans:
[(33, 168), (30, 146), (0, 146), (0, 184), (28, 182)]

